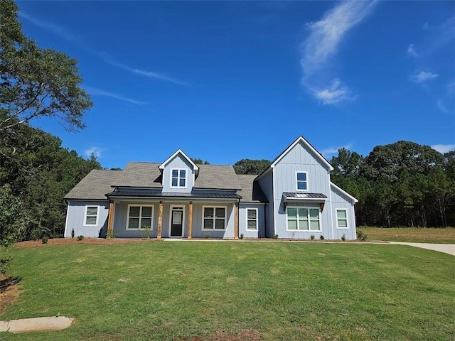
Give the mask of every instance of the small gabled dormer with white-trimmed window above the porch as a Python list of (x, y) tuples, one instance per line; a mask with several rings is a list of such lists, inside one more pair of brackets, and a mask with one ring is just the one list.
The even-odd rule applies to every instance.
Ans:
[(199, 168), (180, 149), (159, 166), (164, 193), (190, 193)]

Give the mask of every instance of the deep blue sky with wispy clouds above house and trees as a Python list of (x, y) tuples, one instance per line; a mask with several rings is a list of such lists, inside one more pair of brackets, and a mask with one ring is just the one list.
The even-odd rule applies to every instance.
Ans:
[(95, 103), (77, 134), (102, 166), (326, 158), (399, 140), (455, 149), (454, 1), (19, 1), (23, 31), (79, 62)]

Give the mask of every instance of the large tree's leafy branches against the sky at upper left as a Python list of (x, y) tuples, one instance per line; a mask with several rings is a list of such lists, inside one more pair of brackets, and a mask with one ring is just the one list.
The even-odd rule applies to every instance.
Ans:
[(36, 117), (83, 129), (92, 102), (81, 82), (77, 61), (39, 48), (23, 35), (14, 1), (0, 0), (0, 134), (16, 134), (16, 126)]

